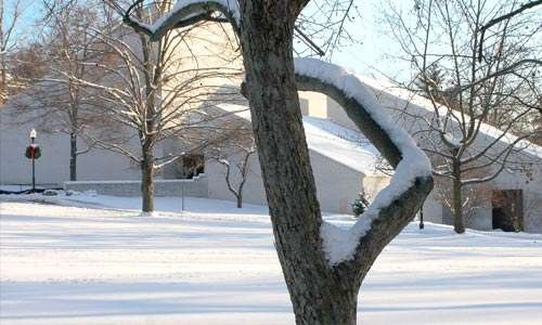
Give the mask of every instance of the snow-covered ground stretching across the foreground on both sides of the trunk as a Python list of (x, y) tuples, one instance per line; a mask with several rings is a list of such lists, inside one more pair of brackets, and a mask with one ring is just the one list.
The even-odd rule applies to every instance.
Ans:
[[(138, 198), (22, 198), (0, 196), (2, 325), (294, 324), (266, 207), (158, 198), (140, 217)], [(359, 317), (541, 324), (542, 235), (412, 223), (369, 273)]]

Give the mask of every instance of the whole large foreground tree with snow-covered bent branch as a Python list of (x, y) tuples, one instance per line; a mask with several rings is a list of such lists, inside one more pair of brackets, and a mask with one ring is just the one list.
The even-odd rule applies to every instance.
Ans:
[[(249, 100), (275, 247), (296, 322), (356, 324), (361, 282), (382, 249), (417, 211), (431, 190), (433, 179), (425, 155), (406, 133), (382, 116), (380, 107), (353, 75), (318, 60), (312, 62), (312, 68), (307, 61), (298, 62), (294, 68), (295, 24), (309, 2), (178, 1), (153, 26), (141, 24), (129, 8), (116, 8), (127, 24), (154, 39), (194, 21), (217, 16), (230, 21), (241, 42), (246, 80), (243, 92)], [(347, 90), (347, 86), (351, 89)], [(377, 197), (370, 207), (371, 217), (361, 218), (345, 233), (322, 219), (298, 89), (332, 96), (390, 165), (399, 169), (387, 194)], [(409, 166), (420, 169), (409, 170)], [(337, 233), (338, 243), (345, 244), (338, 245), (343, 248), (328, 237)]]

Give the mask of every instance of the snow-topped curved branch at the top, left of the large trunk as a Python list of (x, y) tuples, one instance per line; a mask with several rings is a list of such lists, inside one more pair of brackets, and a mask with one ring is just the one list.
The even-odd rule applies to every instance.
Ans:
[(230, 22), (235, 31), (241, 25), (241, 12), (236, 0), (178, 0), (172, 10), (156, 20), (152, 25), (131, 16), (136, 5), (124, 13), (124, 22), (138, 31), (145, 32), (152, 39), (160, 39), (167, 31), (176, 27), (188, 26), (198, 21), (218, 21), (215, 13), (220, 13)]

